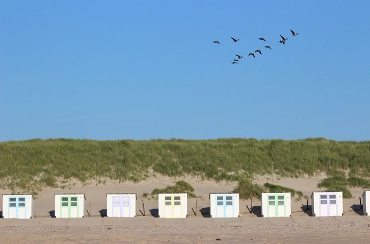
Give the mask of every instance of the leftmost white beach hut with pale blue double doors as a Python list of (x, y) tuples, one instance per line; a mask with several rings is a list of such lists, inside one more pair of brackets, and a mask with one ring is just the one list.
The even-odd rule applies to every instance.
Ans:
[(3, 194), (2, 217), (4, 219), (32, 219), (34, 217), (32, 194)]

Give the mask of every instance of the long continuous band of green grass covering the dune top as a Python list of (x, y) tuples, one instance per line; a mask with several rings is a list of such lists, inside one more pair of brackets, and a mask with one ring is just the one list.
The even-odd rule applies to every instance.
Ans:
[(34, 139), (0, 143), (0, 169), (0, 188), (23, 192), (56, 187), (72, 178), (137, 182), (152, 171), (235, 181), (265, 173), (299, 177), (350, 171), (351, 176), (369, 177), (370, 142)]

